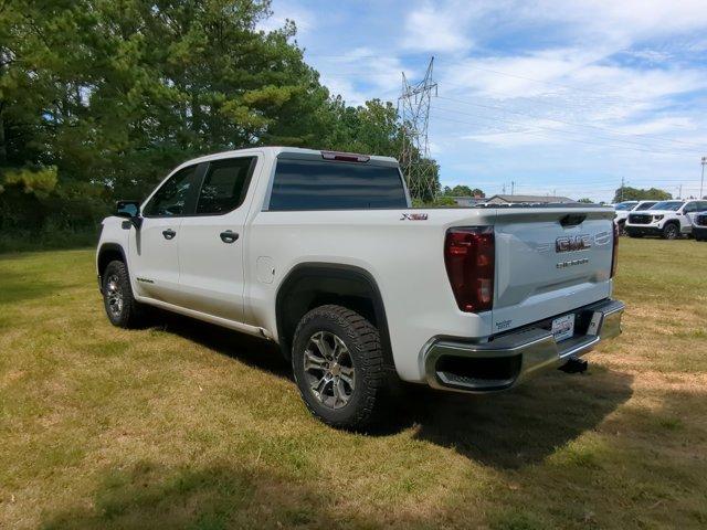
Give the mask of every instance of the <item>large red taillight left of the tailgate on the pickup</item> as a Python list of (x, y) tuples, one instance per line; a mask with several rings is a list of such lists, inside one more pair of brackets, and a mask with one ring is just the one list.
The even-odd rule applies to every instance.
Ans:
[(444, 240), (444, 264), (452, 292), (465, 312), (487, 311), (494, 304), (494, 229), (450, 229)]

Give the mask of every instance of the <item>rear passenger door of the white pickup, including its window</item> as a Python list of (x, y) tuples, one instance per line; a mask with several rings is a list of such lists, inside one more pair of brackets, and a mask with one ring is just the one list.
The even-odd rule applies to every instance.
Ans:
[(180, 227), (182, 306), (244, 321), (245, 222), (258, 159), (250, 155), (208, 162), (194, 214)]

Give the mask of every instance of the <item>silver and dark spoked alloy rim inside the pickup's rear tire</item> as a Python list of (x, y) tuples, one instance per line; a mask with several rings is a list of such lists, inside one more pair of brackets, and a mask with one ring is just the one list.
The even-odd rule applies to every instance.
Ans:
[(328, 409), (346, 406), (356, 388), (356, 368), (344, 341), (330, 331), (317, 331), (304, 357), (305, 380), (315, 399)]

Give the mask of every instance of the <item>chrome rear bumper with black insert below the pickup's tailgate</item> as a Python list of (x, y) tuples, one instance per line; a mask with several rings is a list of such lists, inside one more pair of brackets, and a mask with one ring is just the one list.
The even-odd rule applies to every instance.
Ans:
[(516, 386), (621, 333), (624, 304), (602, 300), (574, 311), (574, 337), (557, 342), (546, 321), (497, 336), (484, 343), (434, 339), (423, 352), (430, 386), (464, 392), (496, 392)]

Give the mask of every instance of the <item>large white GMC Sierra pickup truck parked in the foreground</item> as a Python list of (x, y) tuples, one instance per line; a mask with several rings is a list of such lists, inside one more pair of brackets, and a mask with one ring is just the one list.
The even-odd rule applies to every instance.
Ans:
[(391, 378), (494, 392), (621, 332), (614, 211), (411, 209), (392, 158), (264, 147), (190, 160), (103, 222), (116, 326), (145, 305), (277, 342), (308, 409), (362, 428)]

